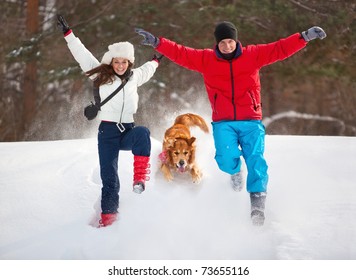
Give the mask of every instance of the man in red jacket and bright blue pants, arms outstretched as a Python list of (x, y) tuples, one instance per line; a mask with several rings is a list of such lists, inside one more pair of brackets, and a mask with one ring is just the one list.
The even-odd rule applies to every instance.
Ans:
[(263, 156), (265, 128), (262, 124), (261, 84), (263, 66), (286, 59), (303, 49), (310, 40), (326, 37), (320, 27), (269, 44), (243, 47), (231, 22), (216, 25), (213, 49), (193, 49), (166, 38), (136, 29), (142, 44), (154, 47), (173, 62), (200, 72), (212, 108), (215, 160), (231, 175), (236, 191), (242, 189), (242, 156), (247, 166), (247, 191), (251, 199), (251, 219), (263, 225), (267, 194), (267, 163)]

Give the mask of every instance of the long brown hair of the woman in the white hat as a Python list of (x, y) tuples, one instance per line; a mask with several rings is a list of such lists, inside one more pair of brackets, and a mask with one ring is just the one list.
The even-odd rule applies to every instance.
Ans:
[(96, 77), (94, 78), (94, 86), (100, 87), (101, 85), (114, 82), (115, 75), (120, 77), (121, 79), (124, 79), (126, 75), (131, 72), (132, 66), (133, 63), (129, 61), (129, 66), (127, 67), (127, 70), (123, 75), (117, 75), (111, 64), (100, 64), (98, 67), (95, 67), (85, 72), (85, 74), (88, 77), (96, 75)]

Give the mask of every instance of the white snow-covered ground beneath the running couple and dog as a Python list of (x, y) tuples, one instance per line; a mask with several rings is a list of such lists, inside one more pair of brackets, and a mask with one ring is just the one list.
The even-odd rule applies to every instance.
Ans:
[(192, 132), (202, 182), (167, 183), (152, 139), (138, 195), (132, 154), (121, 152), (120, 218), (100, 229), (89, 225), (101, 188), (95, 137), (0, 143), (0, 260), (356, 259), (356, 138), (267, 135), (266, 223), (253, 227), (249, 196), (219, 171), (212, 136)]

